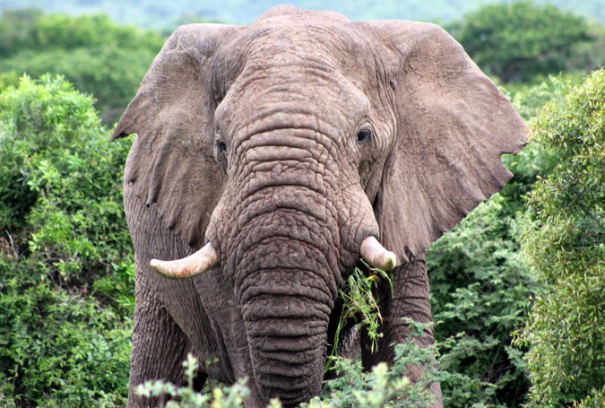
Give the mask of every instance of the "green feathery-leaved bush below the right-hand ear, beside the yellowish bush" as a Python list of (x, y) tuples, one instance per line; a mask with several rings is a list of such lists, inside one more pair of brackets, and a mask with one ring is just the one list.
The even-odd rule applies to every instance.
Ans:
[(448, 407), (515, 406), (529, 386), (510, 333), (541, 287), (515, 239), (523, 220), (509, 213), (515, 206), (507, 200), (498, 194), (481, 204), (427, 254), (436, 339), (460, 333), (442, 348), (442, 366), (475, 380), (442, 384)]

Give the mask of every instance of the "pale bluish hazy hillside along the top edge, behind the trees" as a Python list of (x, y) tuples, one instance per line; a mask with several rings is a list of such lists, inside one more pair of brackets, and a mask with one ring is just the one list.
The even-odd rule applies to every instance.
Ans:
[[(216, 22), (249, 23), (275, 4), (333, 10), (351, 20), (402, 19), (450, 22), (489, 0), (0, 0), (0, 8), (37, 7), (57, 13), (108, 13), (114, 22), (166, 30), (201, 18)], [(550, 0), (563, 9), (605, 22), (605, 0)], [(572, 5), (573, 4), (573, 5)]]

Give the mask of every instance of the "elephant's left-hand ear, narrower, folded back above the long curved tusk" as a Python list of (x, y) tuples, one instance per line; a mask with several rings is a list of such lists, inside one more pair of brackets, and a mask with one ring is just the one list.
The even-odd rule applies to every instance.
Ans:
[[(203, 244), (223, 175), (213, 156), (212, 57), (233, 27), (178, 28), (156, 56), (111, 139), (136, 134), (125, 166), (125, 196), (155, 207), (192, 247)], [(141, 210), (138, 210), (141, 211)]]

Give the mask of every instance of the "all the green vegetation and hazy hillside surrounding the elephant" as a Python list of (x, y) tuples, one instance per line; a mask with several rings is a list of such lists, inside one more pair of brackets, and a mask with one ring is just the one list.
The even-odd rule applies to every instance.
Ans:
[[(125, 404), (129, 141), (110, 129), (175, 25), (251, 22), (269, 3), (0, 0), (0, 407)], [(297, 4), (442, 23), (532, 132), (505, 159), (512, 182), (429, 250), (436, 349), (371, 373), (337, 362), (312, 406), (423, 406), (402, 374), (427, 352), (448, 407), (604, 406), (604, 2)], [(237, 406), (242, 390), (142, 392)]]

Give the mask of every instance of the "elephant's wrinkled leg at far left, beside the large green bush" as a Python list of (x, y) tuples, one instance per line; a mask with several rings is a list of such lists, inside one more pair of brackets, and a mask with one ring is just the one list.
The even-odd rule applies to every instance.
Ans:
[[(143, 398), (136, 395), (135, 389), (145, 381), (156, 379), (181, 385), (182, 362), (191, 351), (191, 345), (150, 288), (137, 282), (136, 291), (127, 407), (163, 406), (165, 401), (162, 400), (167, 397)], [(205, 376), (201, 373), (196, 383), (203, 379)], [(199, 384), (196, 386), (201, 388)]]

